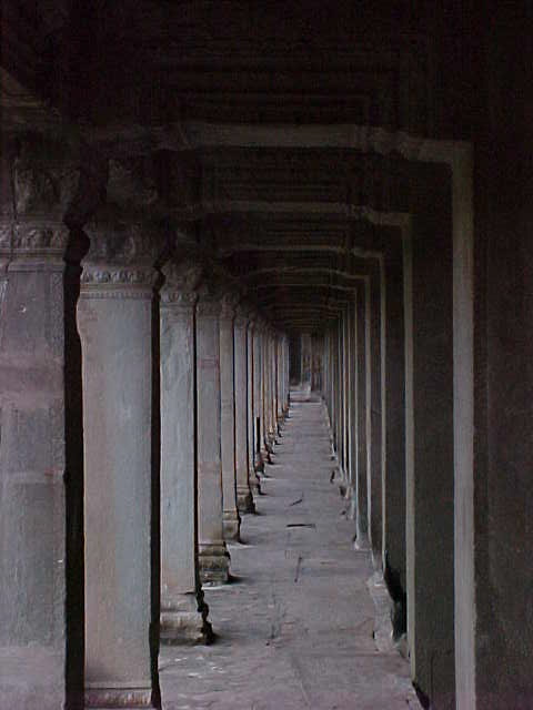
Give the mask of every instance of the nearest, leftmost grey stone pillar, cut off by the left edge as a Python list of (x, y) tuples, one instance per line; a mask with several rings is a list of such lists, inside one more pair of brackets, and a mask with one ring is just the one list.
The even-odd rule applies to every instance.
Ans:
[(48, 148), (1, 150), (0, 707), (57, 710), (69, 672), (67, 496), (79, 473), (66, 490), (62, 215), (76, 176)]

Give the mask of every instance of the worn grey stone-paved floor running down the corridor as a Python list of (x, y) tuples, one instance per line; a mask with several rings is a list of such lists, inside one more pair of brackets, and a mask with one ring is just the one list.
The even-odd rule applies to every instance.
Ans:
[(258, 515), (230, 546), (234, 580), (205, 589), (217, 641), (161, 649), (164, 710), (420, 708), (406, 661), (373, 638), (372, 565), (330, 483), (324, 407), (291, 396)]

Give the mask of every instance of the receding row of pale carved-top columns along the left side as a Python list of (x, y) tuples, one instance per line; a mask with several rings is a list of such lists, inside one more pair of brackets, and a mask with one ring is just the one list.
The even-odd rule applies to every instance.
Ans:
[(0, 704), (152, 707), (159, 640), (210, 638), (201, 585), (254, 510), (288, 342), (198, 264), (155, 270), (137, 224), (87, 227), (77, 286), (44, 222), (1, 252)]

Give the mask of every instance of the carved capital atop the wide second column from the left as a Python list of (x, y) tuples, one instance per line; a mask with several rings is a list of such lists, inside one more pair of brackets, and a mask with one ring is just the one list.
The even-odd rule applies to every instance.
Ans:
[(163, 237), (138, 217), (99, 215), (87, 226), (91, 246), (82, 261), (83, 295), (147, 297), (157, 280), (154, 263)]

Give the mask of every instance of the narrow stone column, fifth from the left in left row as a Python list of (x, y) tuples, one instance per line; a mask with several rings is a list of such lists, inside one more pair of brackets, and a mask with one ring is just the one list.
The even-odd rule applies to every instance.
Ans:
[(233, 352), (233, 320), (237, 297), (228, 294), (220, 314), (220, 397), (221, 452), (223, 487), (223, 527), (225, 540), (239, 540), (241, 518), (237, 509), (235, 464), (235, 384)]

